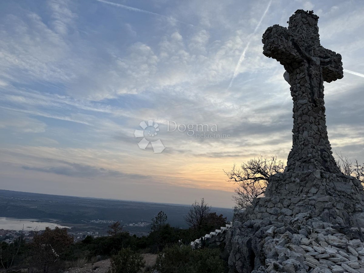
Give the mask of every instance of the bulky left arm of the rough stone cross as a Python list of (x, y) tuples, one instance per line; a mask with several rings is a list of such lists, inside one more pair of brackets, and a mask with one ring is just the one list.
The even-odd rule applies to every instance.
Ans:
[(294, 63), (303, 58), (294, 44), (294, 34), (285, 27), (273, 25), (263, 34), (263, 54), (280, 62), (288, 71)]

